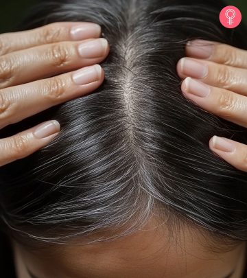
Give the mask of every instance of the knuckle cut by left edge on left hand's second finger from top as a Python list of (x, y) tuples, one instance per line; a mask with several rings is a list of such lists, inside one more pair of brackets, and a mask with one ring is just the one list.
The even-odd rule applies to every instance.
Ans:
[(0, 88), (10, 84), (14, 77), (15, 68), (11, 58), (0, 57)]

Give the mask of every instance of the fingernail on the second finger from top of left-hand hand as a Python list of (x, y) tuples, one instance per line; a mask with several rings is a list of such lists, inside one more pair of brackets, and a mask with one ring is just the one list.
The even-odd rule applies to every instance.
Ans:
[(108, 42), (105, 38), (97, 38), (79, 45), (78, 51), (82, 58), (97, 58), (106, 54), (107, 46)]

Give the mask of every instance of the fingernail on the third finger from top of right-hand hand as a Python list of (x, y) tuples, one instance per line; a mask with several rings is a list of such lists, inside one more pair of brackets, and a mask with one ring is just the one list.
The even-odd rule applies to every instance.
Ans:
[(207, 84), (192, 78), (185, 78), (185, 93), (191, 93), (198, 97), (207, 97), (211, 89)]

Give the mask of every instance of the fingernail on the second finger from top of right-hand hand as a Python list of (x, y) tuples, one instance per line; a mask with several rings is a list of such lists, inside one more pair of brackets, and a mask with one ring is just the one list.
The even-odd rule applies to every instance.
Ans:
[(203, 65), (201, 62), (196, 62), (189, 58), (182, 58), (181, 69), (185, 76), (191, 76), (193, 78), (204, 78), (207, 76), (207, 65)]

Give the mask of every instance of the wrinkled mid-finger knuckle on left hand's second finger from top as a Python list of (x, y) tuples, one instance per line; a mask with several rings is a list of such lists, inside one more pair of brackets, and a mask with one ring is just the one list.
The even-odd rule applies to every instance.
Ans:
[(55, 67), (63, 67), (69, 63), (69, 51), (58, 43), (49, 48), (48, 58)]

